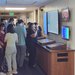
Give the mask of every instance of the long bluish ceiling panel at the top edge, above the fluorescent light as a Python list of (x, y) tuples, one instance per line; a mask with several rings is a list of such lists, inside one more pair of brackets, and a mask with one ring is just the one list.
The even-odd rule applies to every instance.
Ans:
[(17, 5), (39, 5), (41, 3), (47, 2), (50, 0), (7, 0), (7, 4), (17, 4)]

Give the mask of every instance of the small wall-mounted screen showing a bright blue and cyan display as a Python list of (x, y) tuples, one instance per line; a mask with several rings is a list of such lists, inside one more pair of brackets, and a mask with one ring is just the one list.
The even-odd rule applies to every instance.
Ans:
[(62, 35), (62, 38), (65, 40), (70, 39), (70, 28), (69, 28), (69, 26), (62, 26), (61, 35)]

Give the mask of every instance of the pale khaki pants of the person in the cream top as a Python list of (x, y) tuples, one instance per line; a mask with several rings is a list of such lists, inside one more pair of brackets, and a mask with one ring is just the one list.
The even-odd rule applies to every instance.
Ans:
[(5, 57), (8, 65), (8, 71), (17, 70), (16, 50), (13, 47), (7, 47)]

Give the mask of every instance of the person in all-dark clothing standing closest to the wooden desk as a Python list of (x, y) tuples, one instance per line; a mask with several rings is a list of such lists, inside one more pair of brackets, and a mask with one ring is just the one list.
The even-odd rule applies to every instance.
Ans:
[(34, 24), (31, 23), (28, 26), (28, 31), (27, 31), (28, 49), (29, 49), (29, 66), (30, 67), (34, 67), (36, 63), (36, 47), (35, 47), (35, 43), (37, 42), (36, 32), (37, 30), (35, 31)]

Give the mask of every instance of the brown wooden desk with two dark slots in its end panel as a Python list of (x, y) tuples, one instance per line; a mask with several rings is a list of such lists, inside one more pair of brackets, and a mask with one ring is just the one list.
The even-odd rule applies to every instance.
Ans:
[[(65, 45), (64, 45), (65, 46)], [(36, 44), (37, 61), (46, 75), (74, 75), (74, 51)]]

